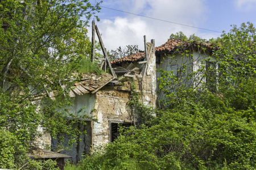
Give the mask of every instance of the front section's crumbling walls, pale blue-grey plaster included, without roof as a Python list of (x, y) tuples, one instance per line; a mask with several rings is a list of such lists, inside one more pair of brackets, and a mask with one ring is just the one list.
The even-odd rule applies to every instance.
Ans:
[[(87, 135), (80, 135), (82, 141), (74, 143), (71, 151), (61, 151), (63, 154), (72, 156), (71, 162), (76, 163), (81, 160), (81, 154), (89, 154), (90, 147), (96, 148), (112, 141), (112, 125), (116, 129), (117, 123), (128, 126), (137, 122), (137, 117), (129, 105), (133, 83), (135, 83), (136, 91), (142, 95), (142, 102), (155, 107), (156, 65), (154, 41), (147, 43), (148, 52), (150, 52), (151, 46), (151, 54), (148, 54), (150, 57), (148, 57), (147, 63), (142, 65), (144, 71), (135, 68), (131, 71), (132, 74), (123, 76), (122, 80), (116, 79), (115, 82), (118, 83), (105, 84), (104, 88), (95, 93), (90, 91), (84, 94), (75, 91), (76, 93), (73, 94), (73, 97), (75, 97), (74, 106), (70, 108), (70, 111), (78, 113), (81, 108), (85, 108), (85, 112), (79, 114), (93, 116), (97, 121), (88, 122), (85, 126), (77, 125), (74, 127), (86, 130)], [(86, 80), (87, 83), (89, 80)], [(76, 86), (79, 86), (79, 83)], [(88, 85), (85, 84), (85, 86)], [(52, 139), (52, 146), (58, 143), (59, 141)]]

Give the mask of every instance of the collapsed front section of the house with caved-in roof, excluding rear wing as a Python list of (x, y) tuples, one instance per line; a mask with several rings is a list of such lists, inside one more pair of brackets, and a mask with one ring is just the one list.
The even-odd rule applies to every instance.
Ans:
[[(152, 46), (152, 48), (151, 48)], [(69, 96), (74, 97), (73, 113), (79, 113), (81, 108), (90, 117), (97, 121), (86, 119), (86, 125), (77, 124), (80, 130), (86, 130), (86, 135), (80, 135), (80, 142), (74, 143), (72, 150), (63, 150), (60, 154), (70, 155), (71, 162), (77, 163), (83, 154), (90, 154), (92, 148), (114, 141), (118, 135), (118, 124), (123, 126), (135, 125), (137, 114), (128, 104), (131, 95), (131, 87), (135, 85), (135, 91), (143, 93), (142, 102), (145, 105), (155, 107), (156, 103), (156, 67), (154, 41), (147, 43), (148, 58), (144, 60), (141, 68), (129, 66), (129, 71), (122, 76), (112, 76), (103, 73), (100, 76), (87, 75), (80, 82), (75, 83)], [(150, 50), (151, 49), (151, 50)], [(43, 129), (41, 129), (43, 131)], [(68, 142), (68, 141), (66, 141)], [(50, 145), (57, 150), (57, 139), (51, 138), (51, 134), (44, 133), (38, 140), (42, 147)], [(66, 145), (64, 143), (64, 145)]]

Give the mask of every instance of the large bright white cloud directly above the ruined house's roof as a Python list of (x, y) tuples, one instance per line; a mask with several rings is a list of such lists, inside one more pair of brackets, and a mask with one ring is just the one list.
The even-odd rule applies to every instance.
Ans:
[[(123, 11), (194, 27), (198, 27), (206, 19), (205, 13), (207, 12), (204, 0), (108, 0), (104, 1), (104, 4), (104, 6), (111, 5), (112, 8)], [(101, 21), (97, 23), (107, 50), (136, 44), (143, 50), (143, 35), (147, 36), (147, 41), (155, 39), (156, 46), (160, 46), (168, 40), (171, 33), (182, 31), (187, 36), (198, 33), (196, 28), (179, 24), (131, 14), (125, 16), (125, 18), (117, 17), (114, 20), (101, 18)]]

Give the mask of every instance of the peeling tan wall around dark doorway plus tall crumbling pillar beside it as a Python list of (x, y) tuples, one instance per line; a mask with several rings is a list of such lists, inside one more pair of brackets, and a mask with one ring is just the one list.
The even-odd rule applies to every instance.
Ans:
[[(97, 122), (93, 122), (93, 145), (99, 146), (110, 142), (111, 123), (131, 123), (134, 121), (134, 113), (129, 107), (131, 83), (135, 83), (136, 91), (142, 94), (142, 102), (155, 107), (156, 103), (156, 65), (154, 41), (147, 43), (148, 53), (152, 45), (151, 54), (144, 71), (140, 73), (132, 70), (133, 75), (125, 75), (121, 86), (113, 87), (112, 90), (98, 91), (93, 115)], [(127, 76), (127, 77), (126, 77)]]

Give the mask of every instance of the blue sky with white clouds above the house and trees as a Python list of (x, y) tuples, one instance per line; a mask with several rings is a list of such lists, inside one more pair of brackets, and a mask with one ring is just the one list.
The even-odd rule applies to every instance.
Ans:
[[(229, 32), (230, 25), (251, 22), (256, 27), (256, 0), (103, 0), (100, 6), (96, 25), (109, 51), (126, 45), (144, 50), (144, 35), (147, 42), (155, 39), (155, 46), (160, 46), (179, 31), (210, 39)], [(91, 37), (92, 28), (88, 31)]]

